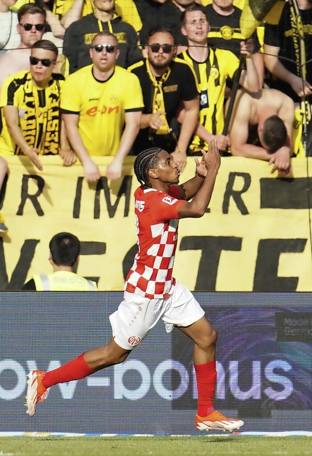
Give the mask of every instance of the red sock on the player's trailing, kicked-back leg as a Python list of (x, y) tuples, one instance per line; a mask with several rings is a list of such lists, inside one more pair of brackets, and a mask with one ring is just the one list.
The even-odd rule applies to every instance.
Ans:
[(42, 385), (44, 388), (50, 388), (50, 386), (56, 385), (57, 383), (79, 380), (80, 378), (87, 377), (94, 372), (95, 371), (90, 369), (88, 364), (85, 362), (82, 354), (78, 356), (78, 358), (60, 366), (58, 369), (46, 372), (42, 377)]

